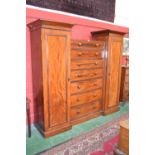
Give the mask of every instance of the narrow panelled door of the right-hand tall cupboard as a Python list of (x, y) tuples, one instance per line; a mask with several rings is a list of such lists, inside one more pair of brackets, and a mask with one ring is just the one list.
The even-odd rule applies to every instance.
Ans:
[(111, 113), (119, 108), (121, 78), (122, 37), (110, 36), (108, 41), (107, 82), (105, 112)]

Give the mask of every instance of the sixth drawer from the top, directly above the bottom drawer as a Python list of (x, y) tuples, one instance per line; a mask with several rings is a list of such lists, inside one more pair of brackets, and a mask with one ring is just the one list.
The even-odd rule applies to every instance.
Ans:
[(85, 92), (82, 94), (71, 95), (71, 106), (80, 105), (102, 98), (102, 89)]

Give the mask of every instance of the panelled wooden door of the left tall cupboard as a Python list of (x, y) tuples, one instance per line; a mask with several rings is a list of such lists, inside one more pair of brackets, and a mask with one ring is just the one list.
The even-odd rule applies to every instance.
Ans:
[(70, 126), (70, 32), (43, 30), (46, 130)]

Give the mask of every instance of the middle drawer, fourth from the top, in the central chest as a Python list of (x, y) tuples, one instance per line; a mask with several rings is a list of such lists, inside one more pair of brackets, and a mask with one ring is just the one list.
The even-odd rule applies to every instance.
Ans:
[(74, 70), (71, 71), (71, 80), (85, 80), (90, 78), (102, 77), (102, 69)]

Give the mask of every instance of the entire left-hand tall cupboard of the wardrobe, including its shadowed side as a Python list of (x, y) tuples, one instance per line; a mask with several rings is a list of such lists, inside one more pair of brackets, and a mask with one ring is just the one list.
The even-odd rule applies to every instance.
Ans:
[(31, 37), (33, 94), (45, 137), (71, 128), (71, 24), (37, 20), (28, 25)]

